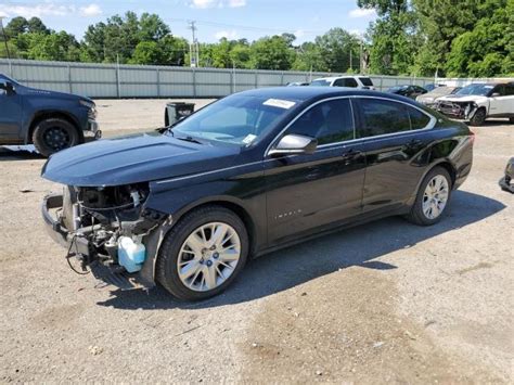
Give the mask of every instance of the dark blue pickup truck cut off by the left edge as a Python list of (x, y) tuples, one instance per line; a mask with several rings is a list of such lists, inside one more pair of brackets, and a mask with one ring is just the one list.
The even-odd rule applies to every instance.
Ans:
[(43, 156), (100, 138), (91, 99), (26, 87), (0, 74), (0, 145), (33, 144)]

